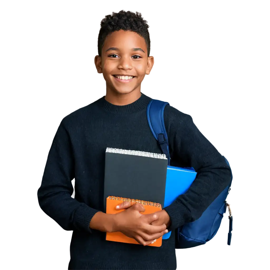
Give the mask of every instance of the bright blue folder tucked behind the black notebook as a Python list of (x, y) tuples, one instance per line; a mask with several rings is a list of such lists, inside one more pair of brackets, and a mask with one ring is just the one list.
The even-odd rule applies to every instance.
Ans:
[[(167, 167), (164, 207), (170, 205), (178, 196), (184, 194), (195, 180), (197, 173), (193, 168)], [(162, 239), (168, 239), (171, 232), (164, 234)]]

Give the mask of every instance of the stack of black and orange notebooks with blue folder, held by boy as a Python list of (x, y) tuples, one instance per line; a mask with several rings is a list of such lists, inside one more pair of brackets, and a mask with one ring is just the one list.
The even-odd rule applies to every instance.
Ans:
[[(104, 178), (104, 209), (106, 213), (117, 213), (116, 205), (123, 200), (142, 203), (143, 214), (160, 211), (184, 194), (196, 177), (192, 168), (167, 166), (164, 154), (134, 150), (106, 149)], [(154, 242), (160, 247), (162, 239), (168, 239), (171, 232)], [(106, 240), (138, 244), (120, 232), (106, 234)]]

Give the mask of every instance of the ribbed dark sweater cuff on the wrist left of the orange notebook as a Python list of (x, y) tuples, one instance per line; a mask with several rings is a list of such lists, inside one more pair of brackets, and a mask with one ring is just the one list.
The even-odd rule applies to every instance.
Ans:
[(83, 229), (84, 231), (92, 233), (89, 227), (92, 217), (99, 212), (99, 210), (93, 209), (86, 204), (82, 204), (76, 211), (73, 217), (74, 227), (78, 230)]

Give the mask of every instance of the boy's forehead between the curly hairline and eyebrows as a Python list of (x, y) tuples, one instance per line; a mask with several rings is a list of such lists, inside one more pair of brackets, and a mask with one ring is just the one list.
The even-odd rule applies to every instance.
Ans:
[(106, 37), (103, 49), (106, 51), (111, 47), (119, 49), (133, 49), (143, 47), (142, 49), (146, 50), (146, 42), (144, 38), (136, 32), (120, 30), (115, 31)]

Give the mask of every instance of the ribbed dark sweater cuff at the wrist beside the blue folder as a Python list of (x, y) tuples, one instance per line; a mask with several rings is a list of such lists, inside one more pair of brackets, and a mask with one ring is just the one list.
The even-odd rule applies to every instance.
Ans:
[(183, 204), (175, 202), (165, 207), (164, 210), (168, 213), (171, 220), (171, 226), (168, 228), (170, 231), (173, 231), (184, 225), (187, 217), (187, 209)]

